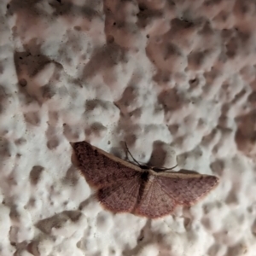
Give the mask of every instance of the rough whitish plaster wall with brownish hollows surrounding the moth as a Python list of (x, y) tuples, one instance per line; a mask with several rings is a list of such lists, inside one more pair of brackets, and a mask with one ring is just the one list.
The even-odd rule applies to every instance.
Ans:
[[(255, 256), (256, 4), (0, 2), (1, 256)], [(220, 177), (149, 220), (102, 210), (69, 142)]]

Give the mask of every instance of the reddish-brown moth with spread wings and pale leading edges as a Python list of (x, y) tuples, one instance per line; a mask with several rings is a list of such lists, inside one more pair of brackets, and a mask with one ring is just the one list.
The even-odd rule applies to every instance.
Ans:
[[(192, 206), (218, 185), (218, 177), (135, 165), (90, 143), (71, 143), (75, 161), (104, 208), (160, 218), (178, 205)], [(137, 162), (137, 161), (136, 161)]]

